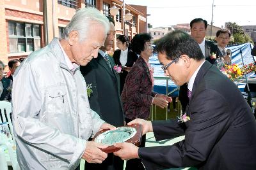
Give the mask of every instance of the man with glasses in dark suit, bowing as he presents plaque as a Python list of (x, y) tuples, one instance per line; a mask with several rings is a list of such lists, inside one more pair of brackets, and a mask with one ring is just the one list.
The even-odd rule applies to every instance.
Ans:
[[(241, 92), (227, 76), (204, 59), (196, 41), (186, 32), (173, 31), (157, 44), (164, 74), (177, 85), (188, 83), (186, 113), (169, 121), (136, 119), (143, 134), (157, 140), (185, 135), (172, 146), (138, 148), (116, 143), (122, 159), (140, 158), (146, 169), (256, 169), (256, 122)], [(218, 100), (217, 100), (218, 99)]]

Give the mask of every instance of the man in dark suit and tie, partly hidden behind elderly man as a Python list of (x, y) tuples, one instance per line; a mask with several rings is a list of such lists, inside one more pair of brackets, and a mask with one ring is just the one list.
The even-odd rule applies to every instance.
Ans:
[[(98, 57), (93, 58), (86, 66), (81, 66), (81, 73), (86, 84), (92, 84), (92, 94), (89, 103), (92, 110), (96, 111), (102, 120), (111, 125), (124, 125), (124, 113), (119, 93), (118, 73), (113, 69), (114, 60), (106, 51), (111, 50), (115, 38), (115, 21), (109, 18), (110, 29), (104, 46), (100, 47)], [(102, 164), (88, 164), (86, 169), (123, 169), (124, 161), (119, 157), (108, 154)]]

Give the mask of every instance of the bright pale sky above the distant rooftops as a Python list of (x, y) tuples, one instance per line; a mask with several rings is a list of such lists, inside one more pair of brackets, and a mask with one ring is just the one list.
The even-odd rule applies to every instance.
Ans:
[[(199, 17), (211, 24), (212, 0), (125, 0), (125, 4), (148, 6), (148, 23), (153, 27), (185, 24)], [(214, 0), (214, 5), (215, 26), (225, 22), (256, 25), (256, 0)]]

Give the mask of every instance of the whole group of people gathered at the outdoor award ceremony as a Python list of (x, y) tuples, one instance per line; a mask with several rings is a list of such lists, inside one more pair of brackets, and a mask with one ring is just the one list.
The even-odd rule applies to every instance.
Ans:
[[(115, 20), (95, 8), (77, 10), (61, 38), (31, 53), (22, 63), (10, 60), (5, 78), (0, 62), (1, 100), (12, 101), (13, 130), (20, 169), (256, 169), (256, 122), (236, 85), (219, 69), (231, 64), (230, 31), (216, 42), (205, 39), (207, 21), (191, 20), (191, 35), (173, 31), (152, 47), (152, 36), (116, 38)], [(97, 34), (95, 34), (97, 32)], [(150, 106), (167, 108), (172, 98), (157, 94), (157, 52), (165, 76), (180, 86), (182, 114), (148, 121)], [(118, 73), (115, 66), (120, 66)], [(88, 89), (92, 94), (88, 97)], [(173, 101), (175, 102), (175, 101)], [(239, 103), (239, 104), (237, 104)], [(92, 140), (101, 130), (141, 124), (141, 145), (108, 145)], [(145, 147), (145, 135), (157, 140), (185, 136), (172, 146)]]

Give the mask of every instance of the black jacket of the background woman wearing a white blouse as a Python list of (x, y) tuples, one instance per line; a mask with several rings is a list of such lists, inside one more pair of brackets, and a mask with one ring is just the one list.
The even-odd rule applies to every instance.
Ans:
[[(115, 61), (115, 64), (118, 66), (122, 66), (120, 62), (120, 54), (121, 54), (121, 50), (115, 50), (113, 54), (113, 59)], [(132, 67), (134, 62), (136, 62), (137, 59), (138, 59), (138, 56), (136, 55), (136, 53), (132, 52), (132, 50), (129, 50), (127, 54), (127, 62), (125, 66)], [(122, 73), (119, 74), (120, 75), (120, 94), (122, 94), (122, 91), (124, 89), (124, 82), (127, 74), (128, 72), (125, 70), (122, 70)]]

